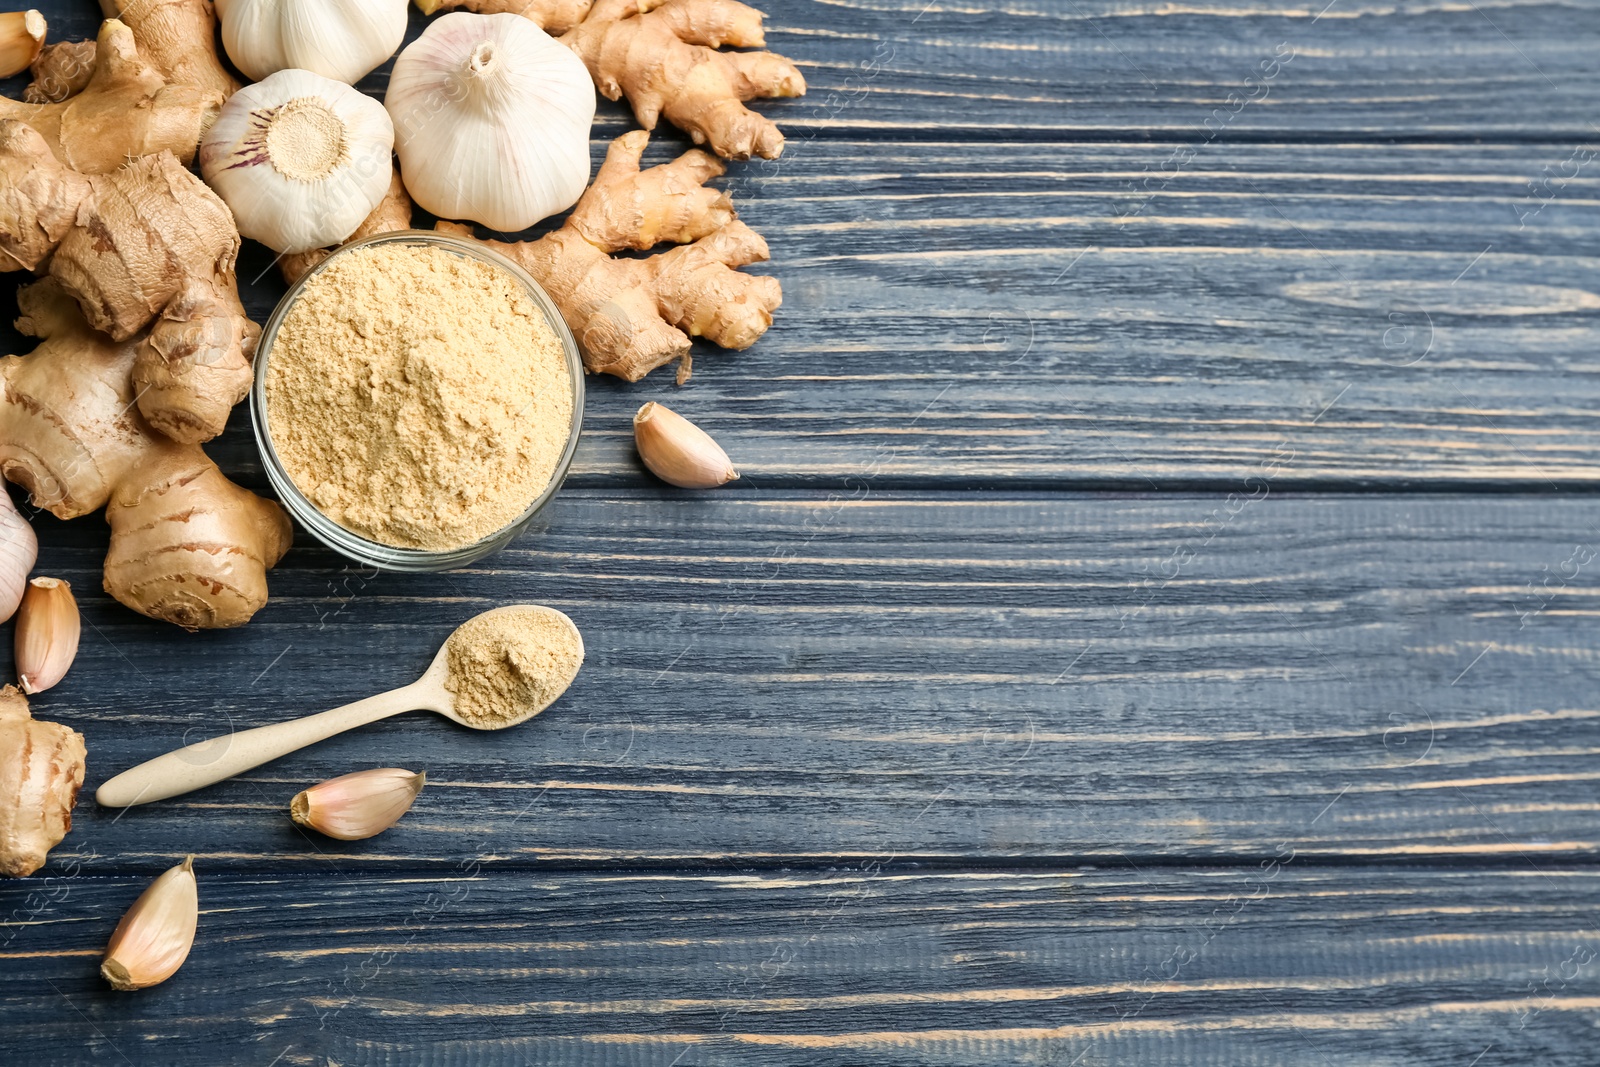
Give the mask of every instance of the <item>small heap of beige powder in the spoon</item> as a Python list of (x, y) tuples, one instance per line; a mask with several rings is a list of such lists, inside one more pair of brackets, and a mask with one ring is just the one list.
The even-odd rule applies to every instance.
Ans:
[(578, 627), (560, 611), (517, 605), (462, 622), (446, 643), (456, 713), (509, 726), (566, 691), (584, 662)]

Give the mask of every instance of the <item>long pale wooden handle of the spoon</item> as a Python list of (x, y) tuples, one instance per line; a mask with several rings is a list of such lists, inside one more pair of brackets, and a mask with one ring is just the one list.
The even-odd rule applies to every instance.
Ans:
[(106, 808), (131, 808), (213, 785), (346, 729), (426, 707), (418, 704), (414, 688), (408, 685), (320, 715), (242, 729), (176, 749), (112, 777), (94, 792), (94, 800)]

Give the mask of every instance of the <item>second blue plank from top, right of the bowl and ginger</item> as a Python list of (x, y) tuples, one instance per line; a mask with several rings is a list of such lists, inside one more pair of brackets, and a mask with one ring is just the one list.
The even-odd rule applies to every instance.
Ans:
[[(771, 333), (682, 390), (590, 379), (574, 485), (648, 483), (643, 400), (723, 440), (734, 493), (1226, 486), (1267, 462), (1285, 485), (1594, 485), (1600, 187), (1526, 187), (1574, 150), (1232, 146), (1131, 197), (1168, 149), (806, 146), (734, 182), (786, 286)], [(282, 286), (254, 248), (258, 275), (264, 318)], [(234, 424), (214, 454), (261, 485)]]

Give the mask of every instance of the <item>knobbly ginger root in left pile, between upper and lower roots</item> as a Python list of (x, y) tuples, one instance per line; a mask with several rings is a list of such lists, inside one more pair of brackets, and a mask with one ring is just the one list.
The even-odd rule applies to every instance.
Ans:
[(117, 341), (149, 326), (138, 405), (178, 442), (221, 434), (250, 392), (261, 330), (238, 301), (237, 254), (227, 205), (170, 152), (85, 176), (27, 123), (0, 120), (0, 270), (48, 269)]

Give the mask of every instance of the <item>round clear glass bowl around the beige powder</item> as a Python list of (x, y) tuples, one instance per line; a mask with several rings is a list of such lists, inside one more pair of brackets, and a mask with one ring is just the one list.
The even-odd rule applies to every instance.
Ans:
[[(354, 248), (368, 248), (371, 245), (384, 243), (443, 248), (445, 251), (458, 256), (480, 259), (512, 275), (528, 291), (528, 298), (533, 301), (534, 307), (544, 314), (544, 318), (550, 323), (557, 339), (562, 342), (562, 352), (566, 357), (566, 371), (573, 382), (573, 427), (566, 437), (566, 448), (562, 451), (562, 458), (555, 464), (555, 470), (550, 474), (550, 483), (544, 486), (539, 498), (528, 506), (528, 510), (509, 525), (496, 530), (482, 541), (474, 541), (472, 544), (461, 545), (459, 549), (402, 549), (392, 544), (382, 544), (381, 541), (368, 541), (358, 533), (346, 530), (317, 510), (317, 506), (312, 504), (306, 494), (299, 491), (299, 488), (296, 488), (294, 480), (290, 478), (288, 470), (283, 469), (277, 450), (272, 448), (272, 434), (267, 427), (267, 365), (272, 360), (272, 342), (278, 336), (278, 326), (283, 325), (285, 315), (288, 315), (288, 310), (294, 306), (294, 301), (299, 298), (306, 283), (317, 277), (320, 270), (326, 269), (330, 262)], [(448, 571), (451, 568), (466, 566), (467, 563), (482, 560), (491, 552), (504, 549), (517, 534), (528, 530), (549, 502), (555, 499), (557, 491), (562, 488), (562, 482), (566, 480), (566, 470), (573, 464), (573, 453), (578, 450), (578, 437), (584, 426), (584, 362), (578, 354), (578, 342), (573, 341), (573, 333), (566, 328), (566, 322), (562, 318), (562, 314), (557, 310), (555, 304), (539, 283), (528, 277), (526, 270), (485, 245), (464, 237), (435, 234), (434, 230), (397, 230), (394, 234), (379, 234), (378, 237), (368, 237), (365, 240), (344, 245), (320, 264), (307, 270), (306, 275), (291, 285), (290, 291), (283, 294), (283, 299), (278, 301), (278, 306), (272, 310), (272, 317), (267, 320), (266, 328), (261, 331), (261, 341), (256, 344), (256, 382), (250, 390), (250, 419), (256, 427), (256, 445), (261, 448), (261, 464), (267, 470), (267, 480), (272, 482), (272, 488), (277, 491), (278, 499), (283, 502), (283, 507), (288, 509), (290, 515), (293, 515), (301, 526), (309, 530), (317, 541), (323, 542), (334, 552), (355, 560), (357, 563), (376, 566), (386, 571)]]

